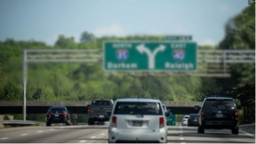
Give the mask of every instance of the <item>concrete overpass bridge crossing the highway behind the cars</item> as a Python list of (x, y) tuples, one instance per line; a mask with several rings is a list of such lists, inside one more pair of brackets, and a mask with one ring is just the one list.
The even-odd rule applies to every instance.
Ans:
[[(197, 113), (195, 105), (201, 106), (201, 101), (162, 101), (173, 114)], [(87, 114), (87, 105), (91, 101), (27, 101), (27, 114), (46, 114), (51, 106), (66, 106), (71, 114)], [(23, 101), (0, 101), (0, 114), (22, 114)]]

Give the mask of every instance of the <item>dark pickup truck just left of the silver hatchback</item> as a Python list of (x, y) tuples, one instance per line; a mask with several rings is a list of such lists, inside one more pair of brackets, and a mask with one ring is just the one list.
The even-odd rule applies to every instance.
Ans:
[(109, 121), (114, 102), (111, 99), (94, 99), (91, 105), (88, 105), (88, 124), (93, 125), (94, 122)]

